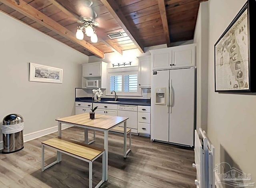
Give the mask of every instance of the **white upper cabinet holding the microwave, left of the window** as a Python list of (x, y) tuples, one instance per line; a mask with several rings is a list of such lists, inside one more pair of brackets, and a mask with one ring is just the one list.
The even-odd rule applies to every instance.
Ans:
[(82, 88), (90, 88), (86, 85), (87, 81), (98, 80), (99, 88), (106, 88), (107, 63), (100, 61), (86, 63), (82, 65)]

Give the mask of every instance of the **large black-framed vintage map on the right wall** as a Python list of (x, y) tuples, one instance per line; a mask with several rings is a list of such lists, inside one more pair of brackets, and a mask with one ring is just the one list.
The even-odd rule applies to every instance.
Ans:
[(214, 45), (215, 92), (256, 91), (255, 10), (248, 0)]

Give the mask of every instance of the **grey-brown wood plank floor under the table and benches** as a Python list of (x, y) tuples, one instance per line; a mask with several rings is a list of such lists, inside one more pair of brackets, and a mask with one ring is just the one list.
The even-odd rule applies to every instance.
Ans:
[[(62, 154), (62, 162), (41, 172), (41, 141), (56, 137), (53, 133), (24, 143), (16, 153), (0, 154), (0, 188), (86, 188), (88, 163)], [(83, 129), (71, 127), (62, 137), (84, 140)], [(92, 132), (89, 131), (89, 137)], [(103, 148), (104, 135), (96, 131), (92, 145)], [(132, 135), (132, 151), (123, 158), (123, 136), (109, 134), (108, 181), (102, 188), (196, 188), (194, 151), (147, 137)], [(45, 165), (56, 160), (56, 152), (45, 149)], [(101, 178), (101, 157), (93, 163), (94, 186)]]

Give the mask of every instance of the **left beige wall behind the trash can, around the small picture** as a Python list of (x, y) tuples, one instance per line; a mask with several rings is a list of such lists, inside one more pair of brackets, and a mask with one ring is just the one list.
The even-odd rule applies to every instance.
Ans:
[[(24, 134), (56, 126), (74, 115), (75, 87), (81, 86), (88, 56), (0, 12), (0, 119), (18, 113)], [(63, 69), (63, 83), (29, 82), (29, 62)], [(0, 133), (0, 141), (2, 133)]]

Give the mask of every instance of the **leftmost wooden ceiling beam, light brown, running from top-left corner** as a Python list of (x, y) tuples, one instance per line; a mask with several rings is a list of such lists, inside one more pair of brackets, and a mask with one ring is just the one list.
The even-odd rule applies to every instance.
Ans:
[(19, 4), (16, 2), (16, 0), (0, 0), (0, 2), (6, 4), (10, 8), (13, 8), (14, 10), (20, 12), (21, 14), (24, 14), (28, 18), (34, 20), (35, 22), (38, 22), (42, 24), (44, 27), (47, 27), (48, 29), (51, 29), (52, 31), (58, 33), (59, 35), (65, 37), (66, 39), (81, 45), (86, 50), (90, 51), (91, 53), (95, 54), (96, 56), (100, 58), (104, 58), (104, 53), (100, 50), (98, 50), (96, 47), (91, 45), (90, 43), (87, 43), (84, 40), (78, 40), (75, 37), (75, 34), (60, 25), (59, 23), (55, 22), (36, 8), (30, 6), (23, 0), (19, 0)]

